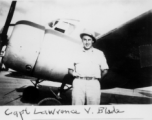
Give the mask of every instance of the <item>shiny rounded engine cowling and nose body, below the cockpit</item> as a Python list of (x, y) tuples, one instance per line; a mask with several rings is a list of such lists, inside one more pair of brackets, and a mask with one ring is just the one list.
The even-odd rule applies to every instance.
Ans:
[(63, 33), (29, 22), (16, 23), (4, 63), (29, 76), (61, 81), (80, 42)]

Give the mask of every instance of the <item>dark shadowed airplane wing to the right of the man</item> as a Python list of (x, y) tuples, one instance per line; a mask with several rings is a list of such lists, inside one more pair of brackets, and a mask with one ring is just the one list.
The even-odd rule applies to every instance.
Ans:
[(100, 36), (94, 47), (109, 65), (102, 88), (138, 88), (152, 81), (152, 10)]

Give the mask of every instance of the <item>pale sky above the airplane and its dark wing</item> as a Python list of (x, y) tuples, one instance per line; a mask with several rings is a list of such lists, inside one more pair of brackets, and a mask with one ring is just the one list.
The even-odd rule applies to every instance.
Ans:
[[(0, 0), (0, 29), (11, 0)], [(80, 20), (102, 34), (152, 9), (152, 0), (18, 0), (12, 23), (29, 20), (47, 25), (58, 18)]]

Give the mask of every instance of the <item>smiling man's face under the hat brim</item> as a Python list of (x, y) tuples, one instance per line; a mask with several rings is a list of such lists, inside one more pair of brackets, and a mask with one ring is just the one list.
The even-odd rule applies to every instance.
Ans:
[(83, 47), (86, 50), (89, 50), (90, 48), (92, 48), (93, 42), (94, 42), (93, 39), (88, 35), (84, 35), (82, 37)]

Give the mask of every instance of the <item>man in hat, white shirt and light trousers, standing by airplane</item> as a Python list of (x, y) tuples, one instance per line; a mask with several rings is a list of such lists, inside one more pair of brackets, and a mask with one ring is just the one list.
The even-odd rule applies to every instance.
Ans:
[(72, 104), (99, 105), (99, 80), (106, 74), (108, 65), (103, 52), (93, 48), (96, 42), (94, 32), (84, 30), (80, 37), (83, 48), (75, 55), (73, 66), (69, 68), (69, 74), (75, 77)]

